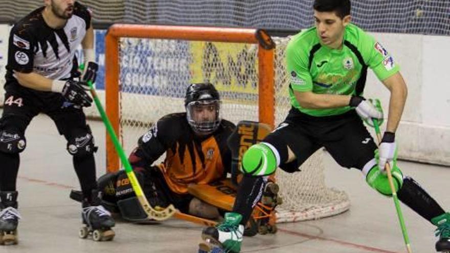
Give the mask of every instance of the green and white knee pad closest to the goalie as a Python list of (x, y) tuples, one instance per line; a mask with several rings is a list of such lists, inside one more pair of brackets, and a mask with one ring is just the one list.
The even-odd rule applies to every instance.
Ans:
[(267, 176), (280, 165), (278, 151), (271, 144), (258, 143), (250, 147), (242, 156), (241, 171), (253, 176)]

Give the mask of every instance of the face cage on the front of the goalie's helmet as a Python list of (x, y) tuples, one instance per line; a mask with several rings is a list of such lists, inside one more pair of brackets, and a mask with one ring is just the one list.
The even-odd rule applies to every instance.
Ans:
[[(214, 116), (213, 119), (202, 119), (198, 113), (206, 113), (208, 116)], [(214, 100), (200, 100), (192, 101), (186, 105), (186, 117), (189, 125), (195, 133), (206, 135), (213, 133), (220, 125), (220, 101)]]

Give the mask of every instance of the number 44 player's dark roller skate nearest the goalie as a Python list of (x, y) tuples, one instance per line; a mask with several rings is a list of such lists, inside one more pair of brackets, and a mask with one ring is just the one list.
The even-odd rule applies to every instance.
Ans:
[(111, 241), (116, 235), (111, 229), (115, 225), (111, 214), (101, 205), (100, 192), (92, 191), (92, 198), (83, 199), (83, 224), (80, 229), (80, 238), (87, 238), (92, 235), (94, 241)]

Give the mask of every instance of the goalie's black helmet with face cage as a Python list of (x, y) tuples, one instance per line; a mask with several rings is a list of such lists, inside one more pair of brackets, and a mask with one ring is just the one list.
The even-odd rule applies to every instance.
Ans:
[(186, 90), (186, 117), (192, 130), (205, 135), (220, 125), (220, 96), (211, 83), (193, 83)]

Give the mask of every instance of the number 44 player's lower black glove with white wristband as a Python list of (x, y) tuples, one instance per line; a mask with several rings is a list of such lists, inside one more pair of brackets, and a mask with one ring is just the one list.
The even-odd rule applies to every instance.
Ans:
[(86, 83), (74, 80), (54, 80), (52, 83), (52, 91), (61, 93), (61, 95), (69, 102), (83, 107), (89, 107), (92, 104), (92, 98), (86, 93), (88, 86)]

